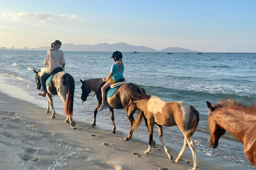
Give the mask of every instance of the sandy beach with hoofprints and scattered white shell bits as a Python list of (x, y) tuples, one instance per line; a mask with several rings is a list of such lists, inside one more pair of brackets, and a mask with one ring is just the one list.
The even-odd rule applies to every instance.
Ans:
[[(174, 163), (169, 161), (158, 138), (154, 140), (161, 150), (153, 148), (149, 154), (144, 154), (148, 147), (147, 135), (134, 132), (132, 139), (125, 141), (127, 129), (118, 128), (116, 134), (111, 134), (112, 126), (98, 123), (92, 128), (89, 122), (77, 121), (75, 113), (77, 124), (73, 129), (64, 123), (63, 115), (57, 113), (56, 119), (51, 119), (51, 114), (45, 114), (46, 109), (40, 107), (40, 100), (35, 101), (18, 87), (10, 91), (12, 87), (6, 87), (3, 78), (0, 80), (0, 150), (3, 153), (0, 169), (183, 170), (193, 167), (189, 148), (185, 150), (184, 161)], [(33, 101), (37, 104), (32, 104)], [(165, 139), (164, 142), (175, 161), (181, 146)], [(203, 152), (196, 151), (196, 154), (199, 170), (253, 169)]]

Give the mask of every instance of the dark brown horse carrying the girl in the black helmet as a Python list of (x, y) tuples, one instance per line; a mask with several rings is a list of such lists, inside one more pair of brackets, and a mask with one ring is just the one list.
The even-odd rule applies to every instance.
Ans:
[[(82, 101), (86, 101), (87, 97), (89, 96), (89, 94), (93, 91), (94, 95), (97, 96), (98, 99), (98, 104), (97, 107), (94, 111), (94, 119), (93, 119), (93, 124), (92, 126), (96, 126), (96, 115), (97, 115), (97, 110), (99, 109), (100, 105), (101, 105), (101, 86), (103, 83), (103, 79), (102, 78), (96, 78), (96, 79), (88, 79), (88, 80), (80, 80), (82, 82), (82, 95), (81, 95), (81, 99)], [(125, 109), (126, 113), (127, 113), (127, 117), (129, 118), (130, 124), (132, 126), (133, 122), (134, 122), (134, 118), (133, 118), (133, 114), (135, 113), (135, 111), (137, 110), (137, 108), (134, 108), (130, 114), (128, 114), (128, 103), (130, 101), (129, 99), (129, 94), (131, 94), (132, 96), (145, 96), (146, 92), (143, 88), (133, 84), (133, 83), (125, 83), (124, 85), (120, 86), (116, 92), (114, 93), (114, 95), (112, 97), (108, 97), (107, 98), (107, 104), (109, 106), (109, 110), (110, 110), (110, 114), (111, 114), (111, 120), (113, 123), (113, 130), (111, 131), (111, 133), (116, 133), (115, 129), (115, 118), (114, 118), (114, 109)], [(139, 111), (140, 112), (140, 111)], [(147, 125), (147, 124), (146, 124)], [(129, 132), (129, 136), (125, 137), (125, 140), (129, 140), (132, 138), (132, 133), (133, 130), (130, 130)]]

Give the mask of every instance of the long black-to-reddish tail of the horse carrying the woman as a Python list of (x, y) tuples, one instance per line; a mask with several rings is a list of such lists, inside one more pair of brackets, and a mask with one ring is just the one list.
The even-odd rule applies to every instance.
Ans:
[(64, 86), (68, 86), (67, 99), (65, 102), (64, 113), (66, 116), (73, 116), (73, 103), (74, 103), (74, 91), (75, 80), (70, 74), (64, 74), (62, 77), (62, 83)]

